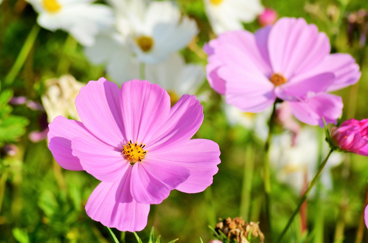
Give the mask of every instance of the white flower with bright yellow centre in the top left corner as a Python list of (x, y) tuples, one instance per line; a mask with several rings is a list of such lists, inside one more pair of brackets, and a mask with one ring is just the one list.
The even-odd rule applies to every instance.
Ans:
[(91, 0), (27, 0), (39, 13), (37, 22), (45, 29), (62, 29), (85, 46), (93, 46), (101, 29), (114, 22), (113, 11)]

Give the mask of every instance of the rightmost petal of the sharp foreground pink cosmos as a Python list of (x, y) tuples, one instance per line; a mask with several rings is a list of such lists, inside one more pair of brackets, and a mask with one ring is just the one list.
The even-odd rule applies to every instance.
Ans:
[(185, 144), (163, 153), (155, 153), (152, 160), (174, 163), (190, 170), (186, 181), (178, 184), (177, 190), (186, 193), (204, 191), (212, 184), (213, 175), (219, 170), (219, 145), (207, 139), (191, 139)]

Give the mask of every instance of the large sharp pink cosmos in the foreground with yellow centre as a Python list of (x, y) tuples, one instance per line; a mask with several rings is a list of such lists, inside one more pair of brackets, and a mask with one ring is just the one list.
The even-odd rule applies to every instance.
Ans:
[(157, 84), (131, 80), (118, 86), (90, 81), (75, 99), (82, 122), (56, 117), (49, 149), (61, 167), (85, 170), (102, 181), (85, 206), (93, 220), (120, 231), (140, 231), (149, 204), (173, 189), (196, 193), (212, 184), (219, 146), (190, 139), (201, 126), (203, 108), (183, 95), (170, 97)]

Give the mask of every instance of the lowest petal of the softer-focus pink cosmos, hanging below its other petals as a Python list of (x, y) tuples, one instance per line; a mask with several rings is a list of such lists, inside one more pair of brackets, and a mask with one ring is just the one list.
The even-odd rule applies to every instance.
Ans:
[(322, 117), (326, 123), (336, 124), (342, 114), (343, 103), (339, 96), (332, 94), (318, 94), (305, 102), (290, 101), (291, 113), (300, 121), (309, 125), (323, 127)]

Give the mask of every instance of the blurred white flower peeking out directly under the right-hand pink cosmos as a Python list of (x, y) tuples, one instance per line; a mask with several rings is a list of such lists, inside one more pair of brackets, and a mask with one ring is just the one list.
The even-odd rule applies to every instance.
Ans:
[(267, 109), (260, 113), (242, 112), (232, 105), (224, 104), (224, 111), (230, 125), (241, 125), (249, 130), (253, 130), (256, 137), (266, 141), (268, 136), (268, 120), (272, 109)]

